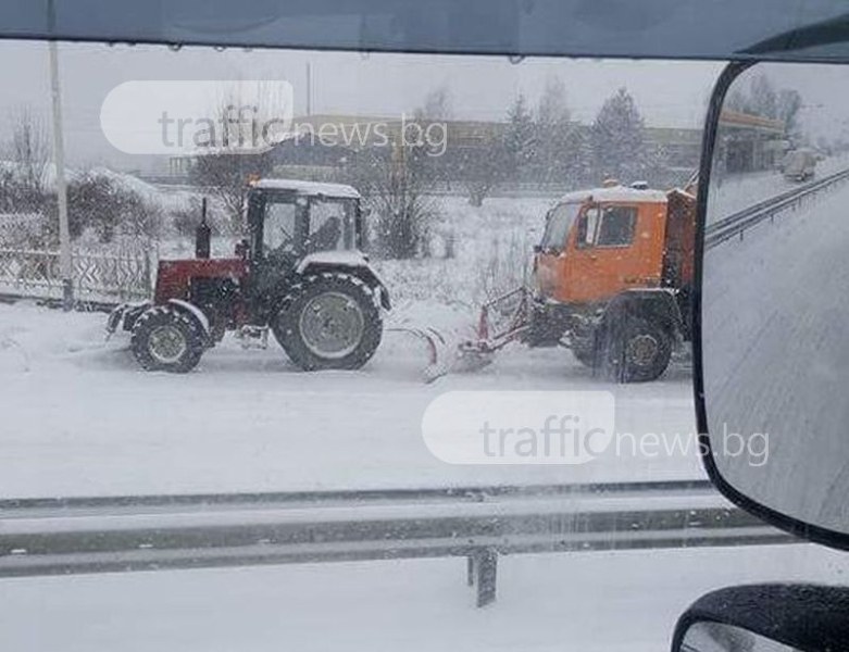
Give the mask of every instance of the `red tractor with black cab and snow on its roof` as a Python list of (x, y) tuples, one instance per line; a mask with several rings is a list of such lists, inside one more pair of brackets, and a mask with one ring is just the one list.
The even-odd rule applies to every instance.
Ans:
[(350, 186), (265, 179), (248, 196), (248, 239), (210, 259), (205, 216), (197, 258), (161, 261), (152, 301), (125, 304), (108, 331), (132, 333), (146, 369), (185, 373), (234, 330), (265, 347), (269, 331), (302, 369), (354, 369), (383, 336), (386, 286), (360, 252), (360, 195)]

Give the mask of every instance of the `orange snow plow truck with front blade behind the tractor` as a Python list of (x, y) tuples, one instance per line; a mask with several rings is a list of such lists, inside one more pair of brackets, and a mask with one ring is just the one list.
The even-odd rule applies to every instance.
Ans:
[(661, 376), (690, 339), (696, 197), (645, 184), (571, 192), (546, 215), (533, 281), (484, 305), (462, 358), (566, 347), (621, 383)]

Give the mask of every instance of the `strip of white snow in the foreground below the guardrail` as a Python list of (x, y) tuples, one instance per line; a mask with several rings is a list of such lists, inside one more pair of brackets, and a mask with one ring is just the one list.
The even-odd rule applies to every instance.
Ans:
[(847, 572), (806, 544), (508, 556), (486, 609), (462, 559), (4, 579), (0, 649), (657, 652), (703, 592)]

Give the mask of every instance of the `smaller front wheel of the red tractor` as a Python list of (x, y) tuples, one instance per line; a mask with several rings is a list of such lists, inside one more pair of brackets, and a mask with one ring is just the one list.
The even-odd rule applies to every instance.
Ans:
[(185, 374), (203, 354), (203, 333), (197, 321), (167, 305), (151, 308), (133, 327), (130, 348), (149, 372)]

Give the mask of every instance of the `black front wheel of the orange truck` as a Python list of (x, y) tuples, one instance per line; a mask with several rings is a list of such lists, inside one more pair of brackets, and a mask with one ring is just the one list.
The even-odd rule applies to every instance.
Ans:
[(608, 330), (604, 338), (605, 371), (620, 383), (646, 383), (659, 378), (670, 364), (672, 338), (654, 322), (630, 317)]

